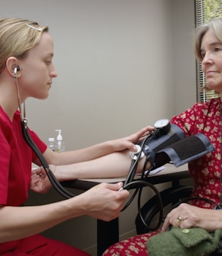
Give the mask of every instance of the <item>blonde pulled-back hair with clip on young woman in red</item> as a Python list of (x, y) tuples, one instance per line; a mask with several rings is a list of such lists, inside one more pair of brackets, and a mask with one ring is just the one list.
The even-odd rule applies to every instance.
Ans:
[(8, 57), (22, 59), (28, 51), (41, 41), (46, 26), (21, 18), (5, 18), (0, 20), (0, 74)]

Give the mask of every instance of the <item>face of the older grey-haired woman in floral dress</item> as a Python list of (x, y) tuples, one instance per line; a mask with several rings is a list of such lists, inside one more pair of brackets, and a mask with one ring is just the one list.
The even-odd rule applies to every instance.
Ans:
[(222, 42), (208, 30), (201, 42), (202, 70), (207, 87), (222, 93)]

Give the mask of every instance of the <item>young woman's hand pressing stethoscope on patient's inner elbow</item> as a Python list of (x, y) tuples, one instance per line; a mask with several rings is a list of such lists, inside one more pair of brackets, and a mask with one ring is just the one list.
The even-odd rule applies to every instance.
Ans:
[(135, 144), (142, 141), (142, 139), (145, 139), (145, 136), (147, 136), (152, 130), (154, 130), (153, 126), (147, 126), (139, 130), (137, 133), (133, 133), (132, 135), (123, 137), (121, 139), (112, 140), (111, 143), (113, 143), (113, 152), (119, 152), (124, 149), (129, 149), (130, 151), (136, 152), (137, 148), (135, 147)]

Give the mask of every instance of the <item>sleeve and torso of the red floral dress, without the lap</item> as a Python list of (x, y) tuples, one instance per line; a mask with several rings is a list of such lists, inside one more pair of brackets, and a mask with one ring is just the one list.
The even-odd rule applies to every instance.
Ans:
[[(215, 150), (189, 162), (188, 168), (194, 182), (193, 196), (201, 196), (220, 203), (220, 98), (193, 107), (171, 119), (187, 136), (204, 133)], [(208, 202), (196, 201), (193, 205), (214, 208)]]

